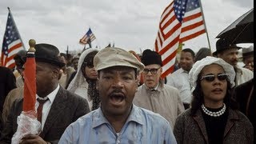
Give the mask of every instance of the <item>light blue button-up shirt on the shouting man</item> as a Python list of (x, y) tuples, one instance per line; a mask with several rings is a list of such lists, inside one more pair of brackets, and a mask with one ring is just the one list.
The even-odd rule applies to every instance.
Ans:
[(122, 130), (117, 134), (101, 108), (78, 118), (68, 126), (59, 143), (177, 143), (169, 122), (150, 110), (133, 106)]

